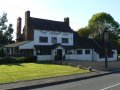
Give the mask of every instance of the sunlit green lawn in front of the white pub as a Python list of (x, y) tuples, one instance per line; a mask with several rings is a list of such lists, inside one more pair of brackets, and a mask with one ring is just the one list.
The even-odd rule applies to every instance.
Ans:
[(0, 83), (42, 79), (86, 72), (89, 71), (70, 66), (53, 64), (22, 63), (0, 65)]

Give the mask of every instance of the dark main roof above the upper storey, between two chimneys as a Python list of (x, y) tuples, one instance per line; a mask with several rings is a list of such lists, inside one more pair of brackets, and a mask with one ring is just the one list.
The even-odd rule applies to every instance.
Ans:
[(51, 30), (51, 31), (62, 31), (62, 32), (73, 32), (68, 23), (60, 21), (52, 21), (47, 19), (39, 19), (30, 17), (30, 25), (34, 29)]

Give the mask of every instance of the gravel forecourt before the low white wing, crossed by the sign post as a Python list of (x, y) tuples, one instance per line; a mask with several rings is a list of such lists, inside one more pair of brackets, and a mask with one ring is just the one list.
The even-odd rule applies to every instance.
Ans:
[[(105, 71), (105, 62), (104, 61), (87, 61), (87, 60), (69, 60), (66, 61), (67, 64), (71, 63), (72, 66), (77, 66), (77, 65), (81, 65), (82, 67), (92, 67), (96, 70), (99, 71)], [(108, 69), (116, 69), (116, 68), (120, 68), (120, 60), (118, 61), (109, 61), (108, 62)]]

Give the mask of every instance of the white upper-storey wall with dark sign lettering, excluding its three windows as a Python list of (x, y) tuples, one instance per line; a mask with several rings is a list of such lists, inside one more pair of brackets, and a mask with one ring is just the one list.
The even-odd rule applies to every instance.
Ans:
[[(56, 33), (56, 34), (54, 34)], [(48, 43), (40, 43), (39, 37), (45, 36), (48, 37)], [(52, 45), (51, 37), (57, 37), (57, 43), (61, 43), (61, 38), (68, 38), (69, 43), (63, 45), (73, 45), (73, 33), (69, 32), (58, 32), (58, 31), (46, 31), (46, 30), (34, 30), (34, 44), (35, 45)]]

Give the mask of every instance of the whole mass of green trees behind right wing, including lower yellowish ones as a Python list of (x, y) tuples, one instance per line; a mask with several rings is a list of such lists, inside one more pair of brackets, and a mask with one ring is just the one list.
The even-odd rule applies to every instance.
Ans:
[(77, 32), (84, 37), (102, 39), (105, 27), (109, 30), (109, 39), (120, 50), (120, 24), (105, 12), (94, 14), (88, 21), (87, 27), (79, 29)]

